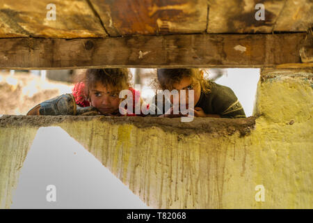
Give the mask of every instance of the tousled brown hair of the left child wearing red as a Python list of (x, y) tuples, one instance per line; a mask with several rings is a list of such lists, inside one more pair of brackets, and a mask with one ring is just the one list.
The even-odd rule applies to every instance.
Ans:
[(127, 68), (88, 69), (83, 78), (83, 82), (86, 84), (85, 94), (89, 98), (90, 89), (93, 89), (97, 83), (110, 86), (112, 91), (120, 92), (129, 89), (130, 79), (131, 73)]

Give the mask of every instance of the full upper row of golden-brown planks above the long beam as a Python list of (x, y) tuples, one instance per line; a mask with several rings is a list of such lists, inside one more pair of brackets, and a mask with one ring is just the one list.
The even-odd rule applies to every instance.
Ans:
[[(46, 19), (49, 3), (56, 21)], [(257, 3), (265, 21), (255, 20)], [(0, 38), (303, 32), (312, 12), (312, 0), (0, 0)]]

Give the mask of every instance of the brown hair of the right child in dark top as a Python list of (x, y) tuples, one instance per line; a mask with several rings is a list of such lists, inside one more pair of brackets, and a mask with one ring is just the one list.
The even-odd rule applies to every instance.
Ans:
[(201, 75), (201, 70), (195, 68), (161, 68), (157, 69), (159, 88), (162, 90), (172, 90), (175, 83), (179, 83), (184, 77), (191, 78), (191, 84), (200, 84), (201, 91), (210, 92), (210, 84)]

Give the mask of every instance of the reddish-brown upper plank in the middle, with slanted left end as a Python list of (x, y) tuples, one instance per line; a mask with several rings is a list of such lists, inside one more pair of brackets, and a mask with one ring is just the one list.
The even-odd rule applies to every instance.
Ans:
[(110, 36), (204, 33), (207, 0), (90, 0)]

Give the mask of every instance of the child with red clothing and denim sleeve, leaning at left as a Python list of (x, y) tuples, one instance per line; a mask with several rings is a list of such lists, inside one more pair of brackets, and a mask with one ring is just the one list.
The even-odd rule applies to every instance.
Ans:
[[(65, 94), (36, 105), (27, 115), (97, 115), (122, 116), (119, 93), (129, 89), (133, 106), (141, 100), (129, 84), (127, 68), (88, 69), (81, 82), (74, 85), (72, 94)], [(138, 93), (136, 95), (139, 95)], [(132, 110), (134, 111), (134, 109)], [(135, 116), (134, 113), (127, 116)]]

